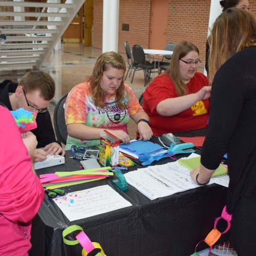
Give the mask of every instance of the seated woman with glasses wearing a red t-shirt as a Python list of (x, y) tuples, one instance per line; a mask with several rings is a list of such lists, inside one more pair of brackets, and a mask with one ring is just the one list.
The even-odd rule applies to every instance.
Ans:
[(199, 63), (198, 48), (186, 41), (179, 43), (169, 68), (143, 93), (142, 107), (154, 135), (207, 126), (211, 86), (208, 78), (197, 72)]

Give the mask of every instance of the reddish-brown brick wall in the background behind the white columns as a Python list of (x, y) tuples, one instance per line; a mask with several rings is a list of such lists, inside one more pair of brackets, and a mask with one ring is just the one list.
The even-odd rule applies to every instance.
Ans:
[[(151, 0), (119, 0), (118, 51), (124, 52), (124, 42), (149, 48)], [(219, 1), (219, 0), (214, 0)], [(209, 23), (211, 0), (169, 0), (167, 42), (183, 40), (194, 43), (205, 60), (205, 43)], [(250, 1), (251, 12), (256, 15), (256, 0)], [(94, 47), (102, 47), (103, 0), (94, 0)], [(122, 31), (122, 23), (130, 25)], [(166, 42), (166, 43), (167, 43)]]

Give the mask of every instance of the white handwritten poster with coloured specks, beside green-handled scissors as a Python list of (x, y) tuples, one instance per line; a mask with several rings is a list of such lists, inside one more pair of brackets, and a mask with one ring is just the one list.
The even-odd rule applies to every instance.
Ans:
[(108, 185), (68, 193), (53, 201), (70, 221), (132, 206)]

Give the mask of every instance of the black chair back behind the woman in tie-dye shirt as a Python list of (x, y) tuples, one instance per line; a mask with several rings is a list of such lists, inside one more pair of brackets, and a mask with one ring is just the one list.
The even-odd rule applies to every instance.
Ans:
[(54, 130), (56, 134), (56, 138), (59, 142), (66, 145), (67, 143), (67, 137), (68, 137), (68, 131), (67, 126), (65, 122), (65, 109), (63, 108), (68, 94), (64, 95), (54, 108), (54, 114), (53, 114), (53, 122), (54, 122)]

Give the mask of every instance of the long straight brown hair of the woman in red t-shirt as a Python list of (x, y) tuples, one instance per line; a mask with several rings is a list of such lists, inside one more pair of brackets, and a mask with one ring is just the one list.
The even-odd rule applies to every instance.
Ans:
[(171, 77), (179, 96), (186, 95), (188, 89), (187, 85), (182, 82), (180, 77), (180, 59), (191, 51), (195, 51), (199, 54), (199, 50), (194, 44), (187, 41), (179, 43), (173, 51), (172, 60), (167, 69), (167, 74)]

